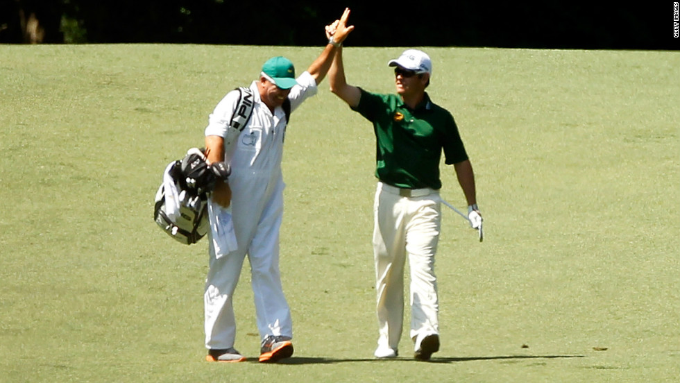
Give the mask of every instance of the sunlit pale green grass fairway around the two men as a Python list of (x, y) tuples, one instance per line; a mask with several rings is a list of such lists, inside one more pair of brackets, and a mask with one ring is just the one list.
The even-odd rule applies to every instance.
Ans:
[[(486, 234), (445, 210), (432, 363), (411, 359), (407, 332), (400, 358), (373, 359), (373, 131), (324, 82), (291, 117), (283, 164), (295, 355), (257, 364), (246, 264), (250, 361), (205, 362), (207, 242), (153, 222), (162, 170), (264, 60), (299, 72), (320, 51), (0, 46), (0, 382), (676, 381), (680, 53), (658, 51), (426, 49)], [(392, 92), (401, 51), (346, 48), (348, 81)]]

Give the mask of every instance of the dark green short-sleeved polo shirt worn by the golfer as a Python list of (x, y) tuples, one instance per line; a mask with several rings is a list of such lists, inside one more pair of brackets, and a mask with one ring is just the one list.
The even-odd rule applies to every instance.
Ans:
[(397, 94), (361, 92), (353, 110), (373, 122), (375, 176), (382, 182), (407, 189), (440, 189), (442, 150), (445, 164), (468, 159), (453, 116), (432, 103), (427, 93), (411, 110)]

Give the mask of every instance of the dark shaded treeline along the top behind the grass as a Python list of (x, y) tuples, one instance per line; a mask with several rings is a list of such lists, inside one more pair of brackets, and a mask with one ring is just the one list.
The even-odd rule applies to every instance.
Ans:
[(0, 43), (314, 46), (345, 6), (352, 46), (678, 49), (673, 1), (0, 0)]

